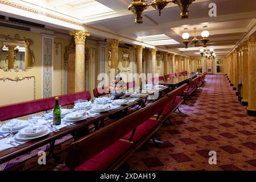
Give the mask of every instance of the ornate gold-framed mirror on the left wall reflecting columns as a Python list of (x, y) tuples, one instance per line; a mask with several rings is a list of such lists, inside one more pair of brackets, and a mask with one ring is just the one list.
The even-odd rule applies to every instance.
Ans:
[(32, 44), (31, 39), (20, 38), (19, 34), (15, 34), (14, 37), (1, 34), (0, 69), (5, 72), (18, 72), (32, 68), (35, 63), (34, 52), (30, 49)]

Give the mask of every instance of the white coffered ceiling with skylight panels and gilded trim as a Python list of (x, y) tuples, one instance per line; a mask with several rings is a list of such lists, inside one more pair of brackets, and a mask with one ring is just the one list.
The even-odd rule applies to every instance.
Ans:
[[(148, 0), (148, 3), (151, 1)], [(206, 28), (210, 32), (208, 48), (213, 47), (217, 56), (223, 56), (236, 46), (256, 22), (256, 1), (251, 0), (196, 0), (189, 7), (190, 17), (188, 19), (179, 18), (180, 9), (174, 3), (169, 3), (161, 16), (158, 15), (158, 11), (149, 7), (143, 13), (143, 24), (134, 23), (133, 13), (127, 9), (131, 3), (130, 0), (12, 0), (12, 2), (104, 30), (104, 34), (99, 33), (100, 31), (92, 31), (93, 36), (109, 38), (106, 32), (112, 32), (115, 36), (119, 35), (120, 39), (129, 38), (136, 40), (134, 43), (146, 43), (152, 47), (180, 52), (187, 56), (199, 56), (199, 48), (202, 44), (199, 42), (196, 47), (189, 44), (189, 48), (184, 49), (181, 38), (185, 32), (184, 28), (188, 28), (187, 32), (191, 40), (193, 39), (193, 27), (197, 28), (196, 35), (200, 39), (203, 26), (208, 26)], [(208, 15), (209, 3), (216, 3), (217, 17)], [(0, 13), (11, 16), (10, 11), (7, 13), (1, 8)], [(15, 15), (15, 12), (13, 14)], [(19, 16), (26, 20), (44, 23), (47, 27), (66, 30), (76, 28), (52, 23), (36, 18), (36, 16), (25, 17), (23, 15), (22, 17), (21, 14)], [(161, 36), (156, 36), (159, 39), (154, 40), (143, 39), (145, 36), (152, 35), (165, 35), (168, 41), (167, 38)], [(123, 40), (123, 42), (126, 41), (127, 39)], [(133, 43), (133, 41), (127, 43)]]

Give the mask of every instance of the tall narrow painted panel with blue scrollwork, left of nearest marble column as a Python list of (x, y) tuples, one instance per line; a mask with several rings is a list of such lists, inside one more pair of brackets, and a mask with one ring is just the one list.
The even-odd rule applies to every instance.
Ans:
[(52, 97), (52, 39), (43, 38), (43, 98)]

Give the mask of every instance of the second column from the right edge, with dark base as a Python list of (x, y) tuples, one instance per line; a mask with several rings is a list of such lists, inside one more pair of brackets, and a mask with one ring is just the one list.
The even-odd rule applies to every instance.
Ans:
[(248, 44), (244, 42), (242, 44), (242, 68), (243, 68), (243, 92), (242, 92), (242, 105), (248, 105)]

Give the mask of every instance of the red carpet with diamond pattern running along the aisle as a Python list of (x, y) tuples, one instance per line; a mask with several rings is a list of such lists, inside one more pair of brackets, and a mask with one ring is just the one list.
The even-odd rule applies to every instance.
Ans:
[[(226, 76), (208, 75), (202, 90), (172, 114), (175, 126), (158, 131), (160, 146), (147, 144), (121, 169), (256, 170), (256, 118), (246, 115)], [(217, 165), (208, 163), (217, 152)]]

